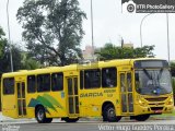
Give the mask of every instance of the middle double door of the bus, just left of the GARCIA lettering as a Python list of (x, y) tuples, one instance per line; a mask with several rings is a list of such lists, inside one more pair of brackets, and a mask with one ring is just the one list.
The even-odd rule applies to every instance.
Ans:
[(78, 90), (78, 76), (67, 78), (68, 84), (68, 107), (69, 116), (79, 116), (79, 90)]

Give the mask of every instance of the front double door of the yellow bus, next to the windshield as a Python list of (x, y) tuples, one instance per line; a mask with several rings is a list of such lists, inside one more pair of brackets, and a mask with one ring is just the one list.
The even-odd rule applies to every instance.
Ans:
[(121, 114), (133, 114), (133, 92), (131, 72), (120, 72)]

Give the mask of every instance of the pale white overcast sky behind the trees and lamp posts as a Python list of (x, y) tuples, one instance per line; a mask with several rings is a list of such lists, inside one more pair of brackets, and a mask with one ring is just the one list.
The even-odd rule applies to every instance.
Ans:
[[(22, 41), (22, 27), (18, 23), (15, 14), (24, 0), (10, 0), (10, 29), (13, 43)], [(88, 20), (83, 22), (85, 35), (81, 48), (91, 45), (91, 0), (79, 0), (80, 8), (86, 13)], [(8, 37), (7, 25), (7, 0), (0, 0), (0, 26)], [(132, 43), (135, 47), (140, 46), (140, 23), (147, 14), (121, 13), (120, 0), (93, 0), (94, 19), (94, 45), (102, 47), (105, 43), (119, 46), (120, 37), (125, 43)], [(167, 59), (166, 14), (151, 14), (142, 23), (143, 45), (155, 45), (154, 53), (159, 58)], [(170, 14), (170, 45), (171, 60), (175, 60), (175, 14)]]

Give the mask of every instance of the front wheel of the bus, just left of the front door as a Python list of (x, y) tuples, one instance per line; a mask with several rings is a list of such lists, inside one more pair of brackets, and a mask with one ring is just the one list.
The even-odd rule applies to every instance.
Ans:
[(118, 122), (121, 119), (120, 116), (116, 116), (115, 108), (112, 104), (105, 106), (103, 110), (103, 120), (108, 122)]

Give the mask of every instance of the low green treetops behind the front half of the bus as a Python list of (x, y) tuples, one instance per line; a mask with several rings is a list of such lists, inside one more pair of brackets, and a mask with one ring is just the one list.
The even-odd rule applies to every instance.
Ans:
[(112, 60), (112, 59), (127, 59), (127, 58), (144, 58), (154, 57), (153, 55), (154, 46), (144, 46), (142, 48), (121, 48), (116, 47), (113, 44), (106, 44), (95, 53), (100, 56), (101, 60)]

